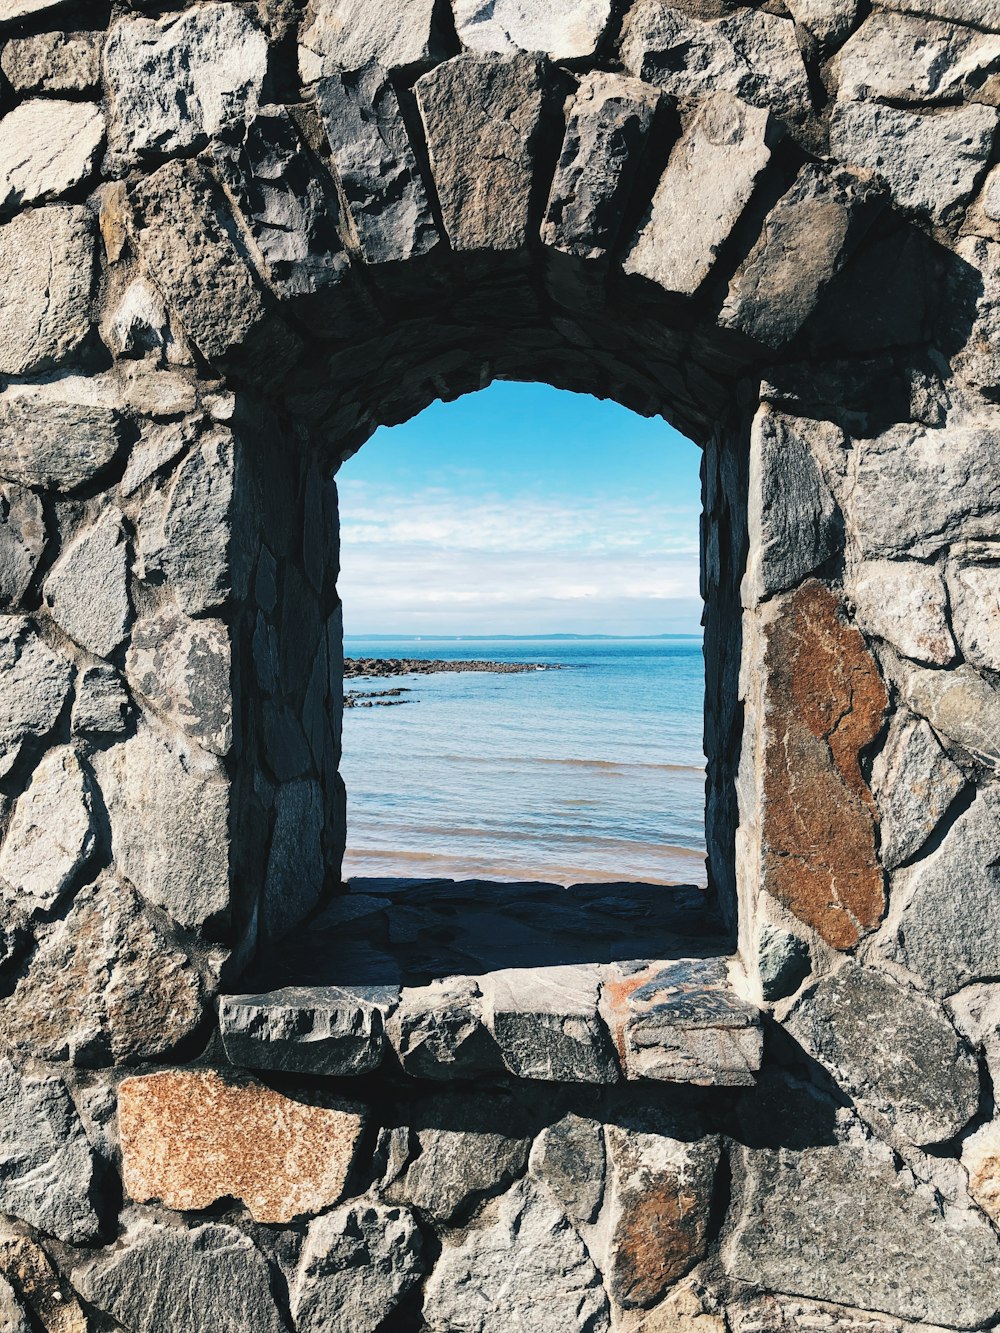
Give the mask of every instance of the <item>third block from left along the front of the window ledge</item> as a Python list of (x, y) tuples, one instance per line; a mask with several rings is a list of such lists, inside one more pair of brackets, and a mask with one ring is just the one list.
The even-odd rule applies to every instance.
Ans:
[(615, 1082), (615, 1052), (597, 1012), (597, 966), (509, 968), (481, 978), (484, 1016), (521, 1078)]

